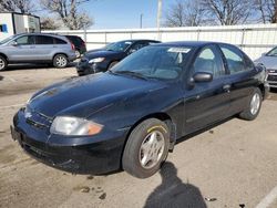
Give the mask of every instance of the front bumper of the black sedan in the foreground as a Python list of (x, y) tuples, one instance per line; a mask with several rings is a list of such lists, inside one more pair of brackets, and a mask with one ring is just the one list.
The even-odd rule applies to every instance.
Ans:
[(14, 116), (13, 125), (12, 138), (29, 155), (47, 165), (78, 174), (104, 174), (121, 168), (126, 131), (66, 138), (28, 124), (23, 111)]

